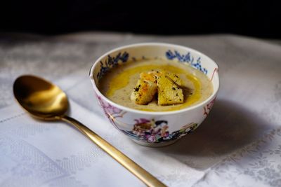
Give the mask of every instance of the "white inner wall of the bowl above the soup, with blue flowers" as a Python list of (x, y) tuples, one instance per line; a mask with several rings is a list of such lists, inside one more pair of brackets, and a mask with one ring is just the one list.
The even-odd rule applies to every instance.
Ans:
[(214, 90), (218, 89), (218, 67), (206, 55), (196, 50), (181, 46), (131, 46), (115, 50), (104, 55), (99, 62), (93, 66), (93, 78), (99, 87), (99, 80), (109, 69), (117, 64), (138, 61), (141, 59), (164, 58), (165, 60), (178, 61), (190, 64), (208, 76), (213, 84)]

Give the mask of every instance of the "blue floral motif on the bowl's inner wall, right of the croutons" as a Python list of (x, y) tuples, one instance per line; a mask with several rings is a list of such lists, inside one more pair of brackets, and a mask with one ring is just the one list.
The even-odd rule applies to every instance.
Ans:
[(187, 62), (195, 69), (202, 71), (204, 74), (208, 73), (208, 70), (201, 65), (201, 57), (198, 57), (197, 60), (195, 60), (189, 52), (185, 55), (181, 55), (181, 53), (178, 53), (177, 50), (174, 50), (174, 53), (171, 50), (168, 50), (166, 52), (166, 58), (169, 60), (177, 59), (179, 62)]

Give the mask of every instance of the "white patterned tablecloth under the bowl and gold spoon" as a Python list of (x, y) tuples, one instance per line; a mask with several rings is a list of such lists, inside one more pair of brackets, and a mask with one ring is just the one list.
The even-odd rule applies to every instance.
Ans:
[[(103, 117), (89, 69), (107, 50), (157, 41), (202, 51), (220, 66), (207, 120), (164, 148), (134, 144)], [(35, 74), (70, 97), (70, 116), (167, 186), (281, 186), (281, 46), (232, 35), (62, 36), (0, 34), (0, 186), (143, 186), (65, 123), (34, 120), (15, 103), (13, 81)]]

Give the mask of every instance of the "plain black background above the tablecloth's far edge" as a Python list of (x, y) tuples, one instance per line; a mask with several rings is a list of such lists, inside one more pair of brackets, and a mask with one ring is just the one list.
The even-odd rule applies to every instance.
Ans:
[(63, 34), (241, 34), (281, 38), (281, 6), (272, 1), (8, 1), (1, 32)]

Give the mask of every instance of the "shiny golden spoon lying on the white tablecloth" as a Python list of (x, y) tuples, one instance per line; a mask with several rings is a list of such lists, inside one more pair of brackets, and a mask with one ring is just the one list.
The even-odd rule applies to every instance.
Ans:
[(20, 76), (13, 84), (13, 93), (18, 103), (35, 118), (63, 120), (72, 124), (147, 186), (165, 186), (164, 183), (118, 151), (98, 134), (74, 118), (66, 116), (65, 112), (68, 109), (67, 95), (58, 86), (36, 76)]

